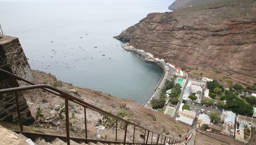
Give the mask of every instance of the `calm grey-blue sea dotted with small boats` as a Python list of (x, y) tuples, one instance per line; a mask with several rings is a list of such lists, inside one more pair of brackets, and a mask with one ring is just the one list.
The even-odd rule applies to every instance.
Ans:
[(32, 69), (144, 104), (163, 71), (113, 36), (148, 13), (169, 11), (172, 2), (0, 0), (0, 24), (5, 35), (19, 38)]

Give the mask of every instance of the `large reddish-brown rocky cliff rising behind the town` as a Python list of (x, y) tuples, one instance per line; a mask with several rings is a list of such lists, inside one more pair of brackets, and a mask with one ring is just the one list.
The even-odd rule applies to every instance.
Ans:
[(224, 1), (148, 14), (115, 38), (187, 71), (218, 70), (251, 84), (256, 81), (255, 5), (253, 0)]

